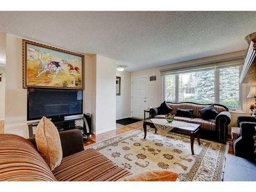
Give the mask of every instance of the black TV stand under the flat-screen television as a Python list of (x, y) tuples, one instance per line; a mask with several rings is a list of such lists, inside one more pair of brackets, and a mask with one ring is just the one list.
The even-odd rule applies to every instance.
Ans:
[[(79, 120), (79, 119), (82, 119), (84, 121), (83, 116), (68, 117), (68, 118), (62, 118), (62, 119), (54, 118), (54, 119), (51, 119), (51, 121), (56, 126), (58, 132), (73, 130), (73, 129), (79, 129), (79, 130), (83, 131), (83, 133), (84, 133), (83, 134), (83, 142), (88, 142), (88, 141), (90, 141), (90, 134), (88, 134), (86, 127), (75, 125), (75, 120)], [(36, 127), (38, 125), (38, 123), (39, 123), (39, 121), (27, 123), (28, 129), (29, 129), (29, 138), (35, 137), (35, 134), (33, 134), (33, 127)]]

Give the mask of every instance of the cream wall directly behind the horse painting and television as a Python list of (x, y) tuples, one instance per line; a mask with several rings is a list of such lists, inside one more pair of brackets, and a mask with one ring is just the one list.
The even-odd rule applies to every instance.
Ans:
[[(95, 127), (96, 110), (96, 56), (85, 56), (85, 91), (83, 112), (93, 114)], [(5, 88), (5, 133), (29, 137), (27, 126), (27, 89), (22, 87), (22, 38), (7, 34)], [(81, 122), (76, 122), (81, 124)]]

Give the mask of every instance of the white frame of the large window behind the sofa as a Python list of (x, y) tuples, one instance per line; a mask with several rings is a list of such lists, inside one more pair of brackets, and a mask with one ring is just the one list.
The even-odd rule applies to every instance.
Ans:
[[(227, 66), (227, 67), (223, 67), (223, 68), (232, 68), (232, 67), (239, 67), (239, 76), (241, 75), (242, 72), (242, 66)], [(222, 68), (222, 69), (223, 69)], [(214, 69), (214, 73), (215, 73), (215, 103), (219, 104), (220, 103), (220, 69), (221, 68), (215, 68)], [(207, 71), (207, 70), (212, 70), (212, 69), (202, 69), (202, 70), (196, 70), (196, 71), (191, 71), (191, 72), (180, 72), (180, 73), (171, 73), (171, 74), (164, 74), (162, 75), (161, 78), (161, 98), (162, 98), (162, 102), (166, 100), (165, 98), (165, 76), (168, 75), (175, 75), (175, 102), (179, 102), (179, 75), (180, 74), (184, 74), (184, 73), (194, 73), (197, 71)], [(233, 108), (229, 108), (230, 111), (242, 111), (243, 110), (243, 87), (242, 84), (239, 83), (239, 101), (240, 101), (240, 105), (239, 108), (233, 109)]]

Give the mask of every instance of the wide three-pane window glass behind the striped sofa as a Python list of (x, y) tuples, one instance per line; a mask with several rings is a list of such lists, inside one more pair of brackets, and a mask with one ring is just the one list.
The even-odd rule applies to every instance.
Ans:
[(239, 74), (240, 67), (226, 67), (164, 75), (164, 100), (220, 103), (229, 109), (240, 109)]

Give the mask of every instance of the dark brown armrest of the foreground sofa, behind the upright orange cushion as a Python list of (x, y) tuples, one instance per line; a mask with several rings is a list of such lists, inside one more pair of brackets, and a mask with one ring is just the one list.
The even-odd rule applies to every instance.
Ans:
[[(62, 157), (67, 157), (83, 151), (83, 137), (80, 130), (68, 130), (59, 132), (61, 147), (62, 147)], [(28, 139), (37, 149), (35, 138)]]

